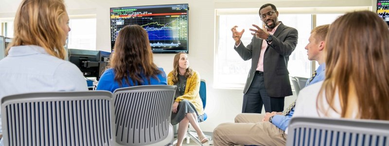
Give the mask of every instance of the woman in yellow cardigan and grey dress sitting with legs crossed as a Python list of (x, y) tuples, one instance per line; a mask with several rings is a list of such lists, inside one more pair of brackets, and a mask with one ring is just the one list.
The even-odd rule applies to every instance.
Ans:
[(177, 146), (181, 146), (188, 130), (189, 122), (195, 128), (201, 143), (208, 142), (198, 122), (204, 121), (203, 102), (200, 99), (200, 75), (189, 67), (188, 55), (178, 53), (174, 56), (173, 71), (168, 75), (168, 85), (176, 85), (173, 104), (172, 125), (178, 126)]

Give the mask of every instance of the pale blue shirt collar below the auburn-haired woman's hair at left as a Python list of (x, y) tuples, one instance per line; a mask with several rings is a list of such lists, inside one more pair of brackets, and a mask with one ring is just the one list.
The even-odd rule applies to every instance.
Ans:
[(35, 45), (25, 45), (25, 46), (15, 46), (11, 47), (8, 52), (8, 56), (25, 56), (25, 55), (35, 55), (35, 54), (48, 54), (43, 47)]

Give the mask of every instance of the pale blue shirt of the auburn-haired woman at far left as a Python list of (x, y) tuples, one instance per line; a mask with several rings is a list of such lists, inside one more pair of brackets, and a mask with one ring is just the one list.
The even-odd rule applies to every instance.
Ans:
[(0, 99), (46, 91), (88, 91), (88, 87), (81, 71), (71, 62), (49, 55), (39, 46), (12, 47), (8, 56), (0, 60)]

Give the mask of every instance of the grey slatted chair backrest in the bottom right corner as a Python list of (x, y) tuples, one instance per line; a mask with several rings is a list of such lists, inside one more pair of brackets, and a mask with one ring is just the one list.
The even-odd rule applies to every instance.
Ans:
[(286, 146), (389, 146), (389, 121), (295, 117)]

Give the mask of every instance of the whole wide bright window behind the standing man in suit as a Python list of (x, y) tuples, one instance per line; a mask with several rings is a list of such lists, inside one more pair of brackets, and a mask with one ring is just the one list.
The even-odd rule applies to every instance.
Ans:
[[(368, 10), (369, 7), (284, 9), (286, 12), (279, 9), (282, 13), (278, 19), (286, 26), (296, 28), (299, 31), (298, 44), (295, 51), (289, 56), (289, 75), (310, 77), (311, 73), (318, 68), (316, 61), (308, 60), (307, 50), (305, 50), (312, 28), (330, 24), (345, 12)], [(326, 12), (331, 14), (326, 14)], [(260, 24), (259, 26), (262, 24), (257, 9), (216, 10), (215, 88), (241, 89), (244, 87), (251, 67), (251, 60), (244, 61), (233, 49), (235, 42), (232, 39), (230, 29), (235, 25), (238, 26), (238, 31), (245, 29), (241, 40), (247, 46), (252, 38), (251, 32), (248, 30), (253, 28), (251, 24)]]

